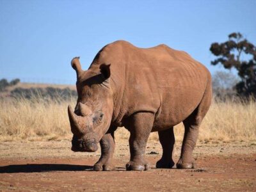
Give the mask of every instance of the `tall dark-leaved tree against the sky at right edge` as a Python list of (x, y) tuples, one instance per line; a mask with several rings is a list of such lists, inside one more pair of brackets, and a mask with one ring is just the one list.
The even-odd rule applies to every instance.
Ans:
[(239, 95), (256, 97), (256, 47), (241, 33), (231, 33), (228, 41), (211, 44), (210, 51), (217, 56), (212, 65), (221, 63), (225, 68), (236, 68), (241, 81), (236, 84)]

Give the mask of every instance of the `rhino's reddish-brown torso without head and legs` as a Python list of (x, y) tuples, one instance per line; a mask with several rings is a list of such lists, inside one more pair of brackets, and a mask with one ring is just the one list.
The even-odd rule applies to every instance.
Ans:
[(122, 84), (121, 116), (156, 113), (155, 129), (176, 125), (198, 106), (211, 76), (186, 52), (166, 45), (149, 49), (129, 42), (109, 44), (98, 63), (111, 63), (114, 81)]

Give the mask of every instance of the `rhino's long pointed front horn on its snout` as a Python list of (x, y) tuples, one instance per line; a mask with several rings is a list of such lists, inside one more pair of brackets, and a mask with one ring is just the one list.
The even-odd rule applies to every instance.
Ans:
[(73, 134), (84, 134), (84, 128), (86, 127), (86, 120), (83, 116), (76, 115), (71, 106), (68, 105), (68, 118), (70, 122), (71, 131)]

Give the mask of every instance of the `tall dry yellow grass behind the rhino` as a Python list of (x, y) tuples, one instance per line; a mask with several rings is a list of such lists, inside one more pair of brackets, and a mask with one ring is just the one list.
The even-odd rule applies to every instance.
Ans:
[[(0, 140), (63, 140), (72, 137), (67, 106), (75, 100), (0, 100)], [(184, 127), (175, 126), (175, 138), (182, 141)], [(116, 140), (129, 138), (129, 132), (118, 128)], [(149, 140), (158, 140), (157, 132)], [(212, 102), (200, 127), (199, 141), (256, 140), (256, 102)]]

